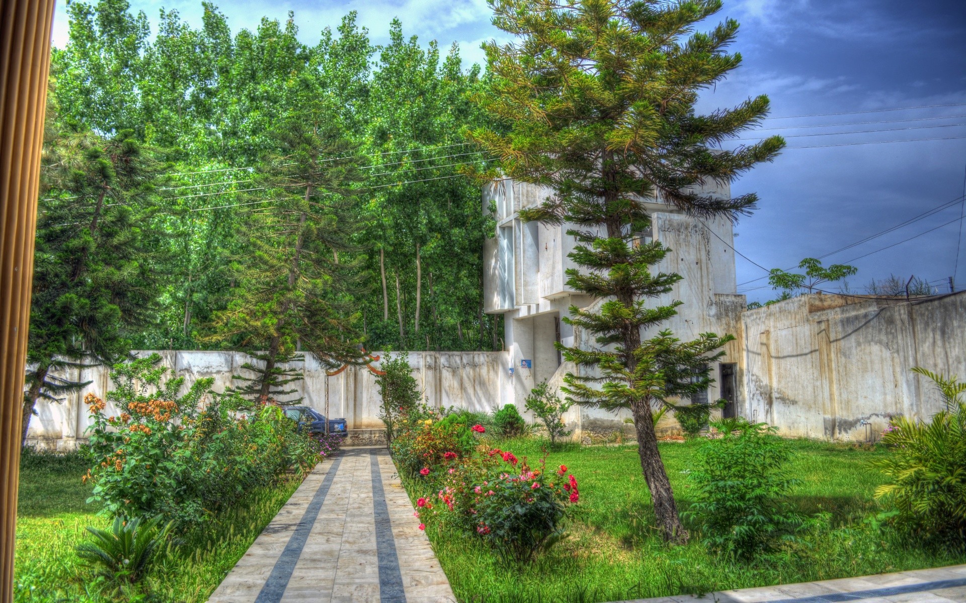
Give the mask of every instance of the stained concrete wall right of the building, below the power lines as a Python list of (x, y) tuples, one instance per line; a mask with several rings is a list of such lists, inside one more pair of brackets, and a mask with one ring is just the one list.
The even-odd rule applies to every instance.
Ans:
[(910, 369), (966, 375), (966, 293), (909, 302), (803, 295), (742, 319), (742, 415), (782, 435), (865, 441), (895, 415), (927, 421), (941, 397)]

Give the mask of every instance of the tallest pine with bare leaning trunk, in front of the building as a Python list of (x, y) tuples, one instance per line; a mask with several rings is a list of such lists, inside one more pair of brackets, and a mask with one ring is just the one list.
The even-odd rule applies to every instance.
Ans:
[[(568, 233), (578, 245), (570, 257), (584, 270), (569, 270), (568, 285), (607, 301), (587, 312), (570, 309), (571, 323), (596, 334), (602, 348), (561, 348), (567, 360), (600, 371), (597, 377), (569, 375), (569, 396), (633, 411), (658, 522), (668, 539), (686, 540), (651, 404), (706, 384), (701, 366), (725, 339), (705, 334), (680, 343), (665, 331), (641, 342), (641, 328), (655, 328), (676, 305), (646, 308), (644, 300), (668, 292), (680, 277), (652, 274), (649, 266), (667, 250), (660, 243), (637, 244), (635, 235), (649, 226), (642, 201), (658, 195), (699, 217), (751, 211), (753, 194), (722, 199), (700, 192), (700, 185), (731, 181), (781, 150), (781, 137), (735, 151), (711, 148), (759, 123), (768, 98), (696, 114), (698, 92), (741, 61), (725, 51), (735, 21), (710, 33), (694, 31), (719, 11), (718, 0), (490, 1), (494, 23), (516, 41), (485, 47), (493, 87), (478, 101), (509, 132), (471, 132), (500, 158), (500, 171), (482, 176), (548, 186), (550, 198), (521, 211), (521, 219), (573, 226)], [(600, 390), (588, 381), (601, 382)]]

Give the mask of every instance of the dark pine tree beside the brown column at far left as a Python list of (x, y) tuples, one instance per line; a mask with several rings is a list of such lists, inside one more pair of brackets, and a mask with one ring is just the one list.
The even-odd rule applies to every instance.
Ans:
[(54, 113), (38, 206), (24, 441), (38, 398), (59, 400), (87, 385), (63, 371), (128, 355), (154, 320), (166, 256), (153, 218), (166, 169), (157, 151), (128, 130), (109, 140), (50, 131)]

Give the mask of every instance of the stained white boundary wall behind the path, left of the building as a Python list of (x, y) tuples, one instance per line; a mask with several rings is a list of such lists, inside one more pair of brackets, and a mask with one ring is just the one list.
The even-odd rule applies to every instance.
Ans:
[[(144, 356), (151, 352), (137, 352)], [(251, 359), (241, 352), (161, 351), (162, 363), (176, 376), (185, 376), (185, 388), (202, 377), (214, 377), (213, 390), (231, 386), (233, 374), (244, 374), (241, 365)], [(376, 352), (376, 355), (381, 355)], [(408, 352), (413, 376), (427, 403), (436, 407), (457, 406), (489, 411), (497, 404), (513, 401), (513, 384), (508, 376), (508, 354), (505, 352)], [(374, 363), (377, 368), (381, 363)], [(382, 429), (379, 419), (381, 398), (376, 375), (364, 367), (352, 367), (327, 377), (325, 369), (311, 354), (304, 362), (293, 363), (302, 368), (304, 379), (292, 384), (301, 402), (332, 418), (345, 418), (350, 429)], [(31, 419), (28, 442), (50, 449), (74, 448), (85, 439), (90, 425), (84, 396), (93, 392), (104, 397), (109, 389), (109, 370), (93, 367), (71, 370), (71, 380), (91, 381), (80, 392), (63, 402), (39, 400), (38, 415)], [(250, 375), (249, 375), (250, 376)], [(326, 383), (328, 382), (328, 383)], [(108, 406), (108, 414), (118, 414)]]

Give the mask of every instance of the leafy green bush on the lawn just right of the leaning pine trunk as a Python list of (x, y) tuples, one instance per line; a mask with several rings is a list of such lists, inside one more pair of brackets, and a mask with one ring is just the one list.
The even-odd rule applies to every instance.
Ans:
[(803, 523), (781, 502), (796, 483), (783, 473), (788, 451), (765, 424), (725, 419), (712, 425), (721, 438), (698, 450), (700, 467), (689, 475), (697, 502), (685, 515), (699, 522), (710, 549), (752, 557), (770, 550), (777, 538), (790, 538)]

